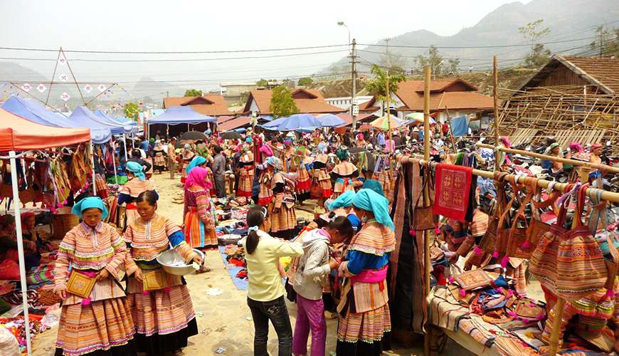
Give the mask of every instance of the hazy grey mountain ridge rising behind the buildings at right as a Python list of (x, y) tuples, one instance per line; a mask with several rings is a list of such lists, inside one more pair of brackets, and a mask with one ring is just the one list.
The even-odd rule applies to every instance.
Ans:
[[(438, 47), (479, 47), (479, 46), (513, 46), (526, 44), (527, 41), (518, 28), (527, 23), (544, 19), (544, 26), (551, 32), (540, 41), (549, 43), (553, 53), (581, 53), (588, 51), (588, 44), (593, 41), (595, 27), (608, 23), (619, 27), (618, 0), (532, 0), (529, 4), (513, 2), (499, 6), (487, 14), (475, 26), (464, 28), (453, 36), (438, 36), (426, 31), (411, 31), (388, 40), (373, 43), (380, 46), (357, 47), (359, 73), (369, 72), (371, 63), (384, 63), (386, 53), (391, 61), (396, 61), (403, 68), (416, 68), (415, 57), (427, 53), (426, 48), (401, 48), (398, 46), (438, 46)], [(586, 38), (579, 41), (566, 41)], [(387, 48), (388, 46), (388, 48)], [(461, 70), (486, 70), (492, 67), (492, 56), (499, 58), (499, 66), (507, 67), (522, 62), (529, 52), (529, 46), (505, 48), (439, 48), (445, 59), (459, 58)], [(342, 58), (325, 68), (321, 73), (337, 73), (342, 68), (349, 68), (349, 58)]]

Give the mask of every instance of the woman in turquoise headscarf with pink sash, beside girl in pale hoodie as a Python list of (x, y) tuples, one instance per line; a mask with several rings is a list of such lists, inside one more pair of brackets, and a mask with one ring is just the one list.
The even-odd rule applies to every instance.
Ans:
[(391, 347), (387, 268), (395, 249), (393, 221), (388, 201), (370, 189), (361, 189), (352, 200), (364, 225), (353, 236), (339, 274), (346, 277), (337, 327), (337, 355), (381, 355)]

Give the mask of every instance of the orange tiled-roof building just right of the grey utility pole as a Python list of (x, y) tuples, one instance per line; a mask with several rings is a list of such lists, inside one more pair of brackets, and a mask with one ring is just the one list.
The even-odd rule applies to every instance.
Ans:
[[(403, 118), (411, 112), (423, 112), (423, 80), (406, 80), (391, 93), (391, 110), (396, 109), (398, 117)], [(359, 112), (381, 115), (383, 103), (374, 95), (371, 100), (359, 105)], [(477, 87), (460, 78), (432, 80), (430, 82), (430, 112), (444, 121), (450, 117), (468, 115), (473, 112), (492, 110), (490, 96), (477, 93)]]

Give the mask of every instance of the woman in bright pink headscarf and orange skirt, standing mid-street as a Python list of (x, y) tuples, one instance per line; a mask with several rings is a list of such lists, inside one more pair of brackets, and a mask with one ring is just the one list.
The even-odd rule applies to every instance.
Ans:
[(206, 169), (196, 167), (185, 182), (184, 234), (191, 248), (217, 246), (215, 206), (209, 193), (213, 183), (207, 174)]

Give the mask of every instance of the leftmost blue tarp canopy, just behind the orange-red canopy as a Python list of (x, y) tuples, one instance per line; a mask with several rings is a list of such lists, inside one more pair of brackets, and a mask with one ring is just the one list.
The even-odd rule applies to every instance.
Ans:
[(63, 115), (48, 110), (43, 104), (38, 103), (34, 99), (19, 98), (11, 96), (2, 108), (12, 114), (41, 125), (65, 128), (90, 128), (90, 138), (93, 143), (100, 145), (112, 138), (112, 132), (108, 127), (90, 127), (89, 125), (80, 125), (68, 120)]

